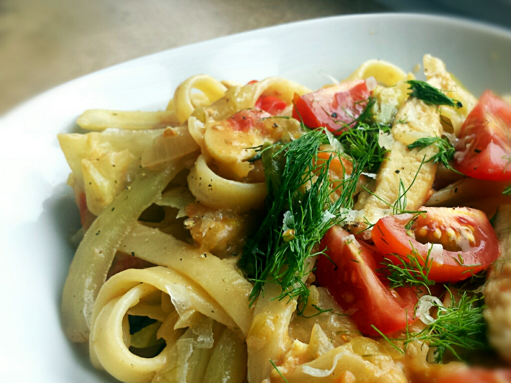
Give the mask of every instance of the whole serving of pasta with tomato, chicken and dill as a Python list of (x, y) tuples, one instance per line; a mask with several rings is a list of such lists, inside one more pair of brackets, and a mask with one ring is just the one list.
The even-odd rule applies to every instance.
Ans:
[(86, 110), (66, 336), (127, 383), (511, 381), (511, 105), (423, 68)]

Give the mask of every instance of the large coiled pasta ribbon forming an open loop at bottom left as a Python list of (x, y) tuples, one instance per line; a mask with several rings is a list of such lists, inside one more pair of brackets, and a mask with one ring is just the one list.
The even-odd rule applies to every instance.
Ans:
[[(123, 320), (129, 310), (136, 307), (141, 299), (158, 290), (170, 296), (179, 315), (173, 326), (174, 331), (188, 326), (190, 322), (187, 319), (198, 313), (230, 328), (237, 327), (226, 310), (190, 278), (161, 266), (145, 270), (125, 270), (103, 285), (94, 306), (89, 352), (95, 367), (104, 368), (126, 383), (142, 383), (151, 381), (156, 372), (165, 365), (167, 351), (173, 346), (169, 340), (177, 340), (179, 332), (166, 337), (169, 343), (160, 354), (144, 358), (129, 351), (127, 329), (123, 330)], [(174, 316), (173, 312), (169, 314), (170, 319)], [(169, 330), (172, 331), (172, 328), (167, 326), (167, 331)]]

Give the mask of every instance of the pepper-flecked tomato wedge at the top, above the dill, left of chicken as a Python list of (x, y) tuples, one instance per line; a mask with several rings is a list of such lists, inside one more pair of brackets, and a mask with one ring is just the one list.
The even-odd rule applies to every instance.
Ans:
[(309, 128), (327, 127), (340, 134), (360, 116), (371, 92), (364, 80), (346, 82), (299, 96), (295, 93), (293, 118)]

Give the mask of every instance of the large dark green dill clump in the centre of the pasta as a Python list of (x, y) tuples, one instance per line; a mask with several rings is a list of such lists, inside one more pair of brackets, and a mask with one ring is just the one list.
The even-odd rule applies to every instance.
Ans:
[[(306, 304), (310, 273), (308, 259), (323, 235), (343, 221), (344, 209), (353, 207), (353, 194), (368, 155), (353, 161), (353, 171), (335, 180), (328, 173), (330, 161), (318, 161), (319, 146), (328, 142), (323, 129), (312, 130), (285, 145), (263, 148), (262, 160), (268, 188), (267, 214), (258, 231), (247, 241), (240, 267), (254, 282), (252, 305), (266, 282), (281, 286), (278, 299)], [(336, 193), (331, 201), (332, 193)]]

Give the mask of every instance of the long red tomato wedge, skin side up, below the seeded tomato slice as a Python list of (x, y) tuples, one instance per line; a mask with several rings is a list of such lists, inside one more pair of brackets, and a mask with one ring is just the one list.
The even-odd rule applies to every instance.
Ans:
[(377, 335), (406, 327), (413, 321), (417, 296), (410, 288), (388, 289), (377, 277), (374, 247), (359, 242), (349, 232), (333, 226), (321, 240), (326, 256), (317, 261), (316, 278), (364, 334)]

